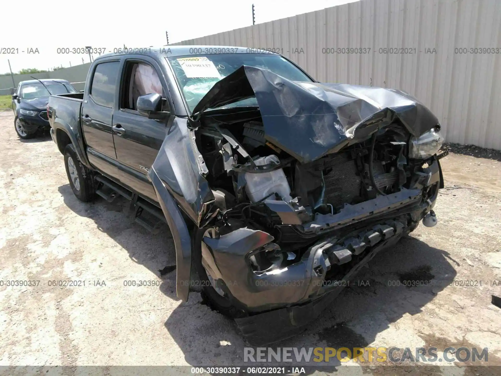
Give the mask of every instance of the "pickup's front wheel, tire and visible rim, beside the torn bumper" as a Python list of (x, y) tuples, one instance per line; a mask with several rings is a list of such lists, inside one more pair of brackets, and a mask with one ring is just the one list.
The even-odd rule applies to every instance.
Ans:
[(242, 309), (235, 307), (234, 298), (229, 292), (227, 286), (221, 280), (216, 281), (211, 277), (209, 266), (204, 266), (202, 262), (202, 252), (210, 253), (209, 249), (203, 243), (203, 237), (212, 238), (215, 236), (215, 230), (209, 229), (195, 229), (193, 232), (193, 262), (195, 270), (200, 278), (202, 286), (202, 294), (206, 298), (210, 307), (219, 313), (229, 318), (244, 317), (247, 314)]

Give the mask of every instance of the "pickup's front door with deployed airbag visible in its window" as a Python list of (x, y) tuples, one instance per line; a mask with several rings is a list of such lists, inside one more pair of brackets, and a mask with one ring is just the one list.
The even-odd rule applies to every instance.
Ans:
[(113, 114), (113, 138), (120, 182), (156, 202), (155, 190), (147, 172), (165, 138), (167, 121), (140, 115), (136, 102), (141, 95), (158, 93), (167, 99), (162, 110), (168, 111), (171, 102), (166, 81), (158, 64), (140, 55), (125, 59), (121, 77), (119, 103)]

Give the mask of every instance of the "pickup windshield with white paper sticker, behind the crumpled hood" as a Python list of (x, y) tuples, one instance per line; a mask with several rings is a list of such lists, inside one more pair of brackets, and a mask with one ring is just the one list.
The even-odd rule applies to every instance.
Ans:
[[(187, 55), (167, 59), (190, 111), (217, 81), (242, 65), (268, 69), (291, 81), (312, 81), (290, 61), (274, 54)], [(258, 106), (258, 102), (256, 98), (247, 98), (224, 107), (244, 106)]]

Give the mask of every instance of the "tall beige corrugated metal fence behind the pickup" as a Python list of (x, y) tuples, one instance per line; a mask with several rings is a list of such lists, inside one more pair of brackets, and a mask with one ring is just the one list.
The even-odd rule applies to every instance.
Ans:
[(321, 82), (398, 88), (447, 141), (501, 149), (500, 30), (500, 0), (362, 0), (179, 44), (275, 49)]

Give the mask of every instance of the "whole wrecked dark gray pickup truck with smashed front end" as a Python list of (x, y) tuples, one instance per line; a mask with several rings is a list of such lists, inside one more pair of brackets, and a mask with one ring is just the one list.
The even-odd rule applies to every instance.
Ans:
[(178, 297), (193, 264), (253, 344), (296, 334), (378, 251), (436, 224), (437, 118), (399, 90), (318, 83), (279, 54), (104, 55), (48, 115), (75, 195), (120, 194), (146, 227), (147, 213), (167, 222)]

